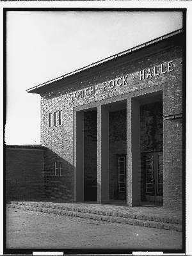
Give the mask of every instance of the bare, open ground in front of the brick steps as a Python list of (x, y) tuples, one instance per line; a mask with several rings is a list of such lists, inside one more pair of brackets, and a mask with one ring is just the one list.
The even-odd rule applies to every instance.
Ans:
[(182, 232), (6, 208), (7, 249), (182, 249)]

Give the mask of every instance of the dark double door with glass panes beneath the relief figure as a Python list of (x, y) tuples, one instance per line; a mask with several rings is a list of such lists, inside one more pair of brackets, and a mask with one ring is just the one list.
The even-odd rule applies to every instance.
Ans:
[(163, 152), (145, 155), (145, 200), (163, 202)]

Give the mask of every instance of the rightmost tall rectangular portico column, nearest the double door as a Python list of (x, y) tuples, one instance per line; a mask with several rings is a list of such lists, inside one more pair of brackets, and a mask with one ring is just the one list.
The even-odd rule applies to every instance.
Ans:
[(127, 205), (140, 205), (140, 102), (127, 99)]

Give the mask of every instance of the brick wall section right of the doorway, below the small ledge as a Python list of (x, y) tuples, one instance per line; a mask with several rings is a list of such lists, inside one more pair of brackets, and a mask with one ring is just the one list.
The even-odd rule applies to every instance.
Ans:
[(164, 122), (164, 208), (182, 209), (182, 124)]

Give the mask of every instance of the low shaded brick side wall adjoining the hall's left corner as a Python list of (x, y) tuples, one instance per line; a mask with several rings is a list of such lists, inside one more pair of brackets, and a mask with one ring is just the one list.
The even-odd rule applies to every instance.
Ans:
[(43, 150), (6, 148), (6, 200), (43, 197)]

